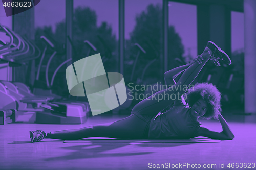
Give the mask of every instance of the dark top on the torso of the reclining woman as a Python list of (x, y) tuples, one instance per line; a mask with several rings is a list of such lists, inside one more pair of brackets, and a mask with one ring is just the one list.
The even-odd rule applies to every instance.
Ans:
[(181, 100), (169, 110), (158, 113), (150, 122), (148, 139), (188, 139), (196, 137), (201, 123), (191, 115), (191, 108)]

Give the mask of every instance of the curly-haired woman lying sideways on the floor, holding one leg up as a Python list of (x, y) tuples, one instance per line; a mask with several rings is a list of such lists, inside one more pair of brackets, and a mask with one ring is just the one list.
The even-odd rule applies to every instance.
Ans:
[[(197, 77), (205, 63), (209, 60), (224, 60), (231, 64), (228, 55), (215, 43), (209, 41), (204, 52), (191, 63), (165, 72), (166, 85), (173, 84), (173, 79), (183, 72), (176, 85), (189, 87)], [(174, 86), (176, 86), (174, 85)], [(181, 88), (174, 86), (153, 94), (155, 96), (169, 96), (183, 94)], [(172, 89), (170, 89), (172, 88)], [(186, 89), (187, 90), (187, 89)], [(189, 139), (205, 136), (220, 140), (234, 138), (227, 122), (222, 117), (218, 89), (208, 83), (196, 84), (186, 92), (184, 98), (170, 101), (156, 99), (150, 96), (139, 102), (132, 110), (130, 116), (111, 123), (92, 125), (75, 130), (45, 132), (41, 130), (30, 131), (31, 142), (44, 138), (77, 140), (87, 137), (110, 137), (119, 139)], [(183, 99), (184, 99), (183, 98)], [(222, 132), (214, 132), (202, 126), (198, 118), (218, 119)]]

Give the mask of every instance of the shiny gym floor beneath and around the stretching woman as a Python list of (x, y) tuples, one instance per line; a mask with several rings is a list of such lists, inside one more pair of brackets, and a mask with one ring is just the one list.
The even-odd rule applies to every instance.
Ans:
[[(12, 123), (0, 126), (0, 169), (150, 169), (156, 164), (256, 163), (256, 116), (223, 115), (236, 138), (220, 143), (63, 143), (44, 139), (30, 143), (29, 130), (57, 131), (111, 122), (127, 115), (97, 115), (82, 125)], [(221, 131), (216, 120), (202, 120)], [(230, 164), (231, 165), (231, 164)], [(242, 166), (241, 164), (239, 166)], [(252, 168), (253, 164), (251, 164)], [(155, 166), (154, 166), (155, 167)], [(176, 165), (177, 167), (177, 165)], [(244, 166), (245, 167), (245, 166)], [(247, 169), (247, 168), (239, 169)], [(153, 167), (152, 167), (153, 168)], [(161, 169), (161, 168), (157, 168)], [(174, 169), (189, 169), (181, 166)], [(191, 168), (196, 169), (196, 168)], [(201, 168), (202, 169), (202, 168)], [(237, 168), (236, 168), (237, 169)]]

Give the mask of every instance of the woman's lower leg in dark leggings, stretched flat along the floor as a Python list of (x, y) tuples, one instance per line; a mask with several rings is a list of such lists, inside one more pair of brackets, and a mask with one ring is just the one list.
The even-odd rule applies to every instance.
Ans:
[(87, 137), (110, 137), (122, 139), (147, 138), (147, 122), (134, 114), (111, 123), (92, 125), (80, 129), (46, 132), (44, 138), (77, 140)]

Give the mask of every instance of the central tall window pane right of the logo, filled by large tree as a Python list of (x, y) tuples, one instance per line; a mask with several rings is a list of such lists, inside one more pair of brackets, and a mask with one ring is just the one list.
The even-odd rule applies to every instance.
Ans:
[(152, 84), (160, 77), (162, 1), (125, 1), (125, 80)]

